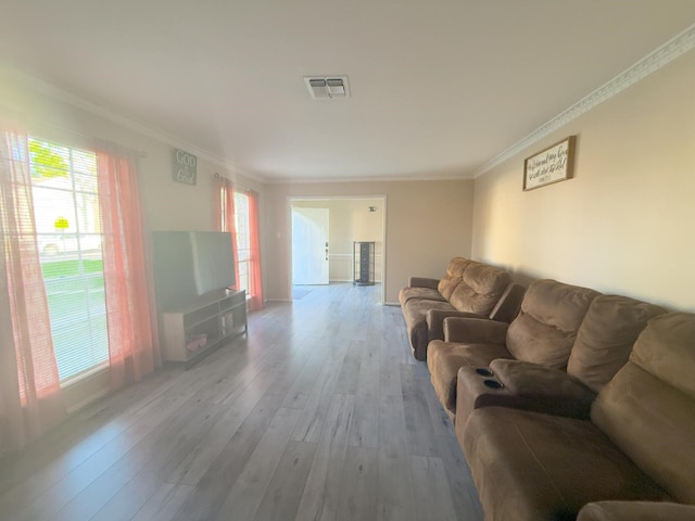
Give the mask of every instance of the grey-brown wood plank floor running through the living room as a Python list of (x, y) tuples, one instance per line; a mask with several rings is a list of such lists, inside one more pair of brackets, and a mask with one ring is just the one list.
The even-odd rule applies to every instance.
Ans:
[(379, 285), (304, 290), (2, 461), (0, 519), (482, 519), (400, 308)]

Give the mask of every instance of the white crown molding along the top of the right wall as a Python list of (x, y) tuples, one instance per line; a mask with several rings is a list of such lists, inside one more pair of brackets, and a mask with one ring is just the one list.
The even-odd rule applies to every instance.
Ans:
[(549, 122), (541, 125), (534, 131), (529, 134), (527, 137), (521, 139), (501, 154), (494, 156), (488, 163), (476, 169), (472, 173), (471, 177), (476, 179), (490, 171), (492, 168), (515, 156), (527, 147), (535, 143), (545, 136), (567, 125), (569, 122), (579, 117), (581, 114), (591, 111), (596, 105), (609, 100), (628, 87), (631, 87), (641, 79), (647, 77), (652, 73), (658, 71), (662, 66), (672, 62), (682, 54), (692, 51), (693, 49), (695, 49), (695, 24), (691, 25), (687, 29), (678, 34), (665, 45), (644, 56), (630, 68), (623, 71), (608, 82), (598, 87), (589, 96), (579, 100), (569, 109), (563, 111)]

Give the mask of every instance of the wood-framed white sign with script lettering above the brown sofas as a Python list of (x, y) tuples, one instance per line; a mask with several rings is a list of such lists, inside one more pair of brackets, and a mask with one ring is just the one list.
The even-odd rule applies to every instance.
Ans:
[(570, 136), (523, 162), (523, 190), (570, 179), (574, 166), (574, 140)]

